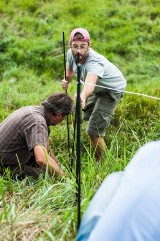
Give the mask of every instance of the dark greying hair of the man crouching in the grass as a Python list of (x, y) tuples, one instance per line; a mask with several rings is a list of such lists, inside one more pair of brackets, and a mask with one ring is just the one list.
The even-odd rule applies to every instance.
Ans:
[(65, 93), (51, 94), (47, 99), (42, 102), (42, 105), (48, 112), (56, 116), (58, 113), (68, 115), (73, 112), (73, 100)]

